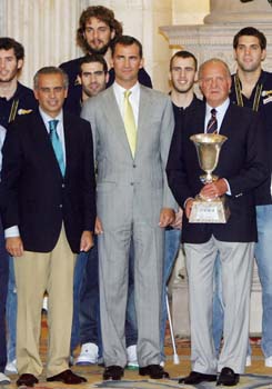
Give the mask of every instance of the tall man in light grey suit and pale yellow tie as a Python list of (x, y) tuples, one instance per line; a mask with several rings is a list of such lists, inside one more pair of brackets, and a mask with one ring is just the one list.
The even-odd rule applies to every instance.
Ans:
[(112, 49), (115, 82), (87, 101), (98, 166), (99, 272), (104, 379), (127, 365), (124, 319), (130, 245), (134, 248), (139, 373), (167, 378), (160, 367), (160, 302), (164, 227), (174, 220), (165, 163), (174, 127), (169, 97), (138, 82), (141, 43), (120, 37)]

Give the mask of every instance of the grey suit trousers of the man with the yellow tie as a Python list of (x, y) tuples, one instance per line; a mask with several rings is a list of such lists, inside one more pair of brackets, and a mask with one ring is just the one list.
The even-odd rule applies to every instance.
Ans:
[[(123, 218), (122, 219), (127, 219)], [(164, 230), (128, 218), (99, 236), (99, 276), (103, 357), (105, 366), (127, 365), (124, 319), (129, 250), (134, 247), (134, 299), (140, 367), (160, 363), (160, 301)]]

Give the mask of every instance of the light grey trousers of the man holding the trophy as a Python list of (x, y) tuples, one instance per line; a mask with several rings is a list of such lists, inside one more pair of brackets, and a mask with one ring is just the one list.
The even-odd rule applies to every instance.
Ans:
[[(250, 319), (254, 243), (219, 241), (184, 243), (189, 275), (192, 370), (215, 375), (223, 367), (244, 372)], [(213, 268), (220, 253), (224, 311), (224, 345), (216, 359), (212, 338)]]

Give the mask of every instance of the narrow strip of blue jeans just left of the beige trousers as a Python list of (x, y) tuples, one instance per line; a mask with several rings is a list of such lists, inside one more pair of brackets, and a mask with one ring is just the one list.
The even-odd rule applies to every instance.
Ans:
[(9, 283), (6, 306), (8, 326), (8, 362), (16, 359), (17, 339), (17, 288), (13, 258), (9, 256)]

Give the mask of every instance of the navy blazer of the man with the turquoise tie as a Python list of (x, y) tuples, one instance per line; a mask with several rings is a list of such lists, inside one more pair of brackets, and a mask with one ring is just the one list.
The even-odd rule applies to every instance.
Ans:
[(3, 146), (1, 210), (4, 228), (18, 226), (23, 247), (49, 252), (64, 223), (71, 250), (83, 230), (93, 231), (95, 184), (89, 122), (63, 113), (66, 176), (39, 111), (14, 121)]

